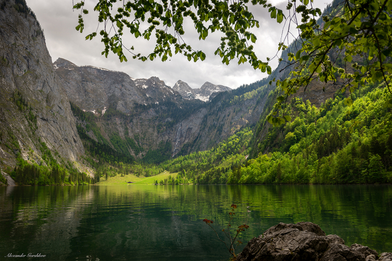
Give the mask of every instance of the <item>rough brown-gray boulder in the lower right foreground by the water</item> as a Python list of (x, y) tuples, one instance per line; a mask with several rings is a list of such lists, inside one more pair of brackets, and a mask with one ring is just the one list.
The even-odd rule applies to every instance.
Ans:
[(392, 261), (392, 253), (382, 253), (367, 246), (344, 245), (337, 235), (325, 235), (311, 222), (279, 223), (263, 235), (251, 239), (237, 261)]

